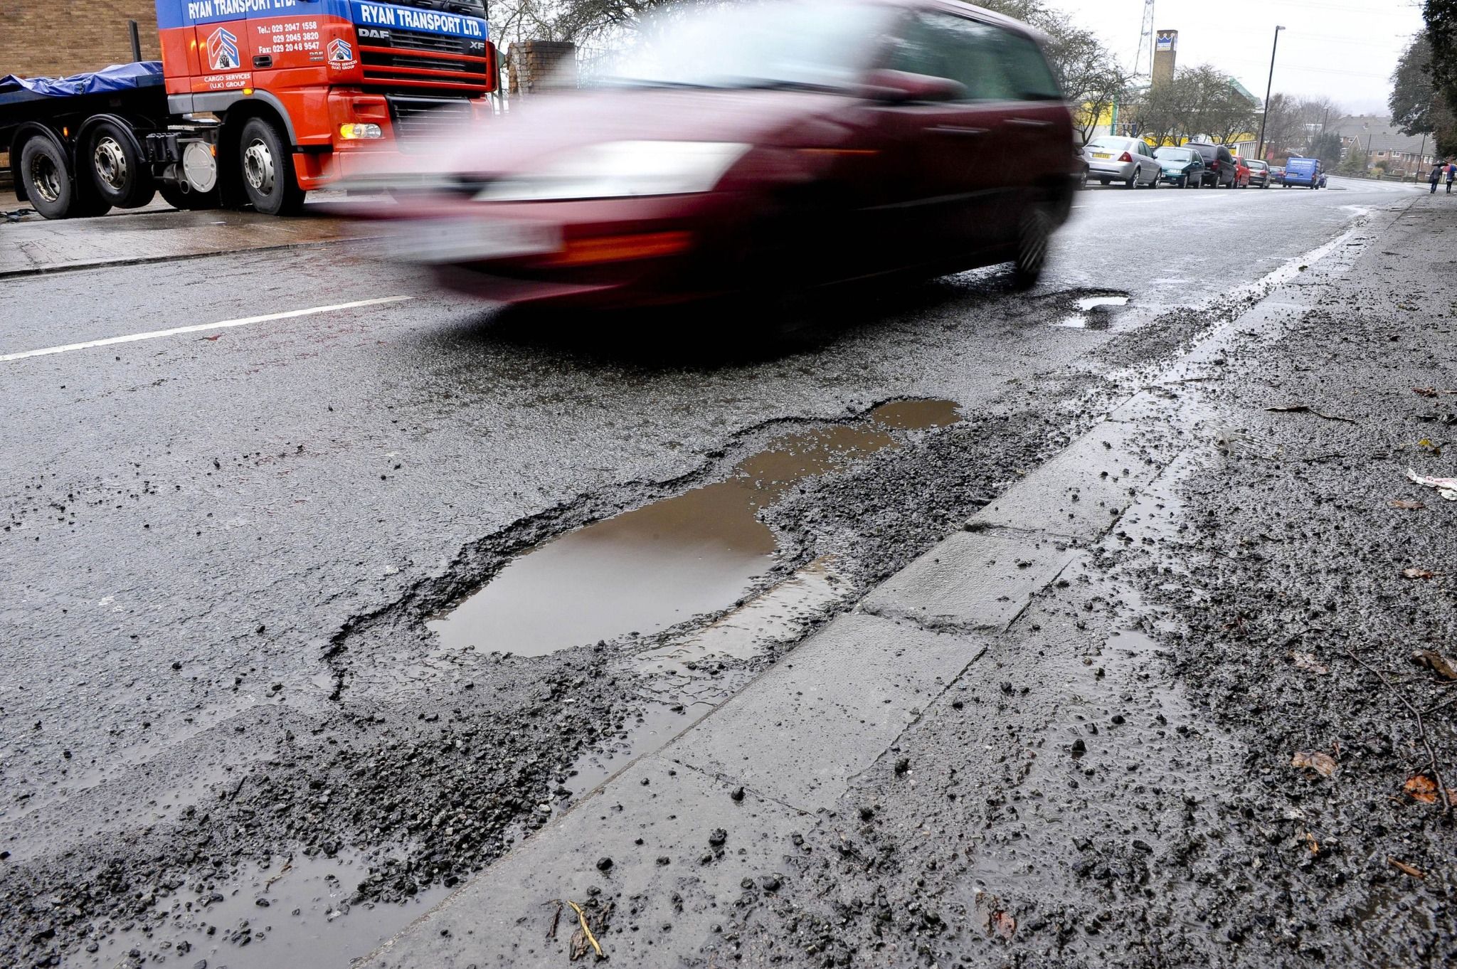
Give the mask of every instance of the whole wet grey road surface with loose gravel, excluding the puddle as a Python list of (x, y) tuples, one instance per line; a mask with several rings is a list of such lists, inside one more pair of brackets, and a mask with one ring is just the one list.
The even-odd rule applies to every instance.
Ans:
[(428, 618), (797, 428), (951, 401), (761, 514), (781, 551), (745, 593), (826, 554), (868, 590), (1259, 280), (1410, 201), (1335, 184), (1090, 191), (1032, 294), (949, 277), (775, 338), (503, 318), (345, 248), (9, 280), (0, 356), (409, 299), (0, 363), (0, 962), (347, 965), (635, 743), (631, 657), (695, 625), (525, 657), (443, 653)]

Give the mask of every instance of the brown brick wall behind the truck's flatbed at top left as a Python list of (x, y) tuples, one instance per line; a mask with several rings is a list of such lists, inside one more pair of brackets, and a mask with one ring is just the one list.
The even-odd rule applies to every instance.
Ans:
[(64, 77), (131, 60), (127, 20), (141, 57), (162, 57), (152, 0), (0, 0), (0, 74)]

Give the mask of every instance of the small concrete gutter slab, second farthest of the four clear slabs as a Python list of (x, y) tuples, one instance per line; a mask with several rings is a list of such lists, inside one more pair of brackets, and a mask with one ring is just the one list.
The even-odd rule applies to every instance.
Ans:
[(1000, 632), (1075, 554), (1058, 536), (956, 532), (870, 593), (861, 608), (928, 627)]

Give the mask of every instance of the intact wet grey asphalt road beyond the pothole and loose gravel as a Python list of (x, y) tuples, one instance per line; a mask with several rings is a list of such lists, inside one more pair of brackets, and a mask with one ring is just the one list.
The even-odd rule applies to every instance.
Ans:
[[(705, 340), (691, 313), (643, 332), (508, 323), (329, 248), (7, 280), (0, 356), (408, 299), (0, 363), (6, 864), (125, 836), (274, 756), (270, 724), (337, 697), (331, 640), (423, 589), (466, 592), (492, 565), (462, 551), (491, 536), (510, 536), (500, 558), (711, 476), (785, 423), (892, 398), (1074, 407), (1068, 373), (1136, 363), (1171, 310), (1412, 191), (1338, 187), (1094, 189), (1030, 296), (967, 274), (829, 303), (774, 341)], [(1087, 290), (1132, 306), (1109, 329), (1053, 325)], [(415, 702), (379, 637), (353, 650), (377, 702)]]

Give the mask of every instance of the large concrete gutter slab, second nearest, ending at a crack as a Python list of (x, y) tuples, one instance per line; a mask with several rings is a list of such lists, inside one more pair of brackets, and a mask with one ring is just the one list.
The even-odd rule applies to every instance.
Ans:
[(661, 756), (801, 810), (829, 807), (983, 648), (844, 615)]

